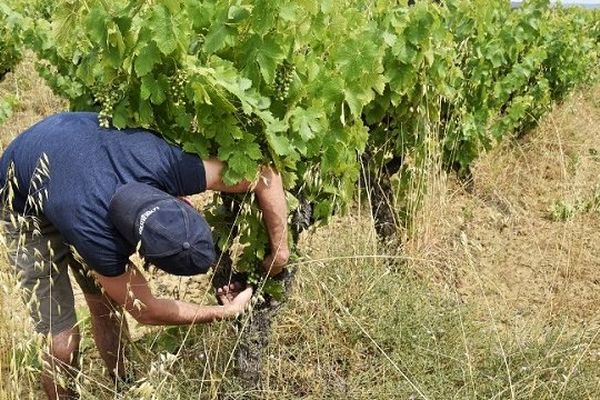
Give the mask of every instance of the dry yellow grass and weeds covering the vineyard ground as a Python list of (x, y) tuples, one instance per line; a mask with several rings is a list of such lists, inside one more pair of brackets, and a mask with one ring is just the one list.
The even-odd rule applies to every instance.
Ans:
[[(65, 107), (31, 64), (0, 85), (0, 93), (18, 88), (20, 100), (0, 126), (2, 145)], [(591, 204), (599, 103), (597, 88), (578, 94), (526, 139), (480, 160), (474, 193), (429, 171), (435, 179), (401, 254), (380, 248), (362, 199), (351, 215), (306, 235), (305, 257), (292, 266), (292, 296), (264, 355), (262, 390), (244, 392), (233, 376), (243, 324), (220, 323), (134, 325), (137, 381), (116, 392), (80, 306), (82, 397), (598, 398), (593, 245), (600, 219), (581, 208), (568, 221), (553, 220), (551, 209), (559, 200)], [(162, 294), (210, 301), (206, 279), (158, 274), (152, 282)], [(0, 399), (40, 398), (39, 343), (6, 262), (0, 289)]]

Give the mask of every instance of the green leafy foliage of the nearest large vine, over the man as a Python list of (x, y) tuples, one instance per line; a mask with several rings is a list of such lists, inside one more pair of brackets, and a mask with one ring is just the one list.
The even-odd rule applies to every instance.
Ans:
[[(28, 42), (72, 109), (217, 157), (229, 184), (271, 164), (322, 221), (352, 197), (361, 112), (385, 83), (377, 27), (350, 4), (58, 2), (50, 20), (31, 18)], [(213, 226), (225, 249), (222, 225)], [(252, 270), (268, 251), (255, 206), (238, 226), (238, 267)]]

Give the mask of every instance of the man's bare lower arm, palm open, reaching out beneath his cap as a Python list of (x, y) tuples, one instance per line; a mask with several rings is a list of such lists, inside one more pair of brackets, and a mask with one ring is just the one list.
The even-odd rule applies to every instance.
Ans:
[(189, 325), (235, 318), (244, 312), (252, 289), (231, 295), (227, 288), (219, 291), (222, 306), (202, 306), (179, 300), (154, 297), (146, 278), (130, 264), (127, 272), (116, 277), (96, 275), (102, 288), (138, 322), (147, 325)]

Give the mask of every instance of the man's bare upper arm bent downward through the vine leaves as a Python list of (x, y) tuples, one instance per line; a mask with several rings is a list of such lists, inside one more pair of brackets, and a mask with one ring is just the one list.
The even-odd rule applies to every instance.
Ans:
[(287, 241), (288, 210), (281, 175), (270, 167), (264, 167), (256, 182), (241, 181), (227, 186), (221, 178), (224, 167), (223, 162), (217, 159), (204, 161), (206, 188), (226, 193), (254, 191), (263, 213), (271, 247), (271, 253), (265, 257), (263, 266), (269, 275), (275, 276), (281, 272), (290, 255)]

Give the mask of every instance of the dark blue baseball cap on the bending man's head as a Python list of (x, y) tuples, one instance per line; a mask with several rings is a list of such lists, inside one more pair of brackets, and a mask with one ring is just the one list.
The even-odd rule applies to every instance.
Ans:
[(109, 206), (117, 230), (146, 261), (173, 275), (206, 273), (215, 262), (210, 227), (185, 202), (144, 183), (117, 189)]

